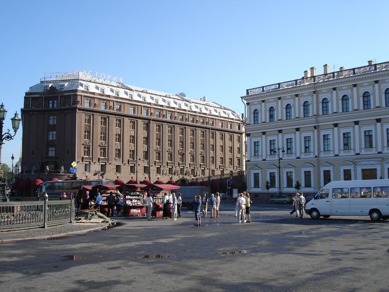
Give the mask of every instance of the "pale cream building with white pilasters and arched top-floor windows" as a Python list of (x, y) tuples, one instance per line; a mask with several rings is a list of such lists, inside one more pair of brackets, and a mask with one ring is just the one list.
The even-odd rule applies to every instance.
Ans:
[(252, 194), (315, 193), (330, 181), (389, 177), (389, 62), (248, 89)]

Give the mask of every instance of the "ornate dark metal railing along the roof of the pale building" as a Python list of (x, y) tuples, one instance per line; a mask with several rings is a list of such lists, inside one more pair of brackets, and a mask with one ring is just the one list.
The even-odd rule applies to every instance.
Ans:
[(284, 88), (294, 87), (294, 86), (301, 86), (301, 85), (306, 85), (314, 82), (322, 82), (326, 80), (343, 78), (343, 77), (364, 74), (373, 71), (387, 70), (387, 69), (389, 69), (389, 62), (372, 64), (372, 65), (367, 65), (362, 67), (356, 67), (353, 69), (345, 69), (345, 70), (336, 71), (332, 73), (321, 74), (321, 75), (310, 76), (310, 77), (302, 77), (300, 79), (255, 87), (255, 88), (247, 89), (246, 95), (263, 93), (266, 91), (279, 90), (279, 89), (284, 89)]

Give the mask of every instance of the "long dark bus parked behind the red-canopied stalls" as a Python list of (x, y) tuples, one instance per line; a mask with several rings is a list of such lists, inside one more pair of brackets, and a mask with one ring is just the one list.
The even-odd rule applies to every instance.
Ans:
[(69, 198), (70, 192), (74, 195), (83, 185), (95, 186), (98, 184), (112, 185), (115, 181), (112, 180), (80, 180), (80, 181), (49, 181), (39, 185), (39, 197), (43, 196), (43, 192), (47, 192), (49, 198), (59, 198), (62, 193), (66, 193)]

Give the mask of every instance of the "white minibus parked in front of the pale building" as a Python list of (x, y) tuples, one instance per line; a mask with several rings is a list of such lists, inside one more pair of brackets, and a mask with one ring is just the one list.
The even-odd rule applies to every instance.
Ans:
[(306, 203), (305, 213), (320, 216), (370, 216), (389, 219), (389, 180), (337, 181), (327, 183)]

